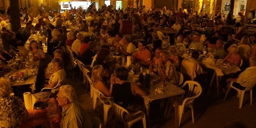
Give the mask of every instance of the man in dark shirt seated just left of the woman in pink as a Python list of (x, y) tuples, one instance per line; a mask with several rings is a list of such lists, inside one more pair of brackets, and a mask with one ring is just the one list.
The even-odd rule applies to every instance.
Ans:
[(223, 41), (222, 40), (218, 40), (217, 43), (216, 43), (216, 46), (213, 47), (212, 49), (210, 49), (209, 52), (212, 53), (212, 54), (215, 54), (214, 58), (217, 58), (217, 59), (225, 58), (226, 52), (223, 49), (222, 45), (223, 45)]

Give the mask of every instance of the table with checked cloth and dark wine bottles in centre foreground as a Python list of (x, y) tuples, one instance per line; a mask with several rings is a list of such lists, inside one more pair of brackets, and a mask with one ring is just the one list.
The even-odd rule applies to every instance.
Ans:
[[(141, 66), (143, 67), (143, 66)], [(143, 74), (145, 75), (146, 71), (148, 69), (143, 67)], [(134, 81), (134, 76), (129, 75), (128, 76), (128, 81)], [(176, 85), (170, 83), (169, 81), (165, 81), (165, 85), (162, 84), (162, 79), (160, 76), (157, 76), (154, 73), (150, 73), (150, 79), (151, 79), (151, 84), (149, 88), (146, 88), (148, 96), (143, 96), (144, 99), (144, 105), (146, 108), (146, 119), (147, 119), (147, 127), (150, 128), (149, 125), (149, 108), (151, 102), (157, 99), (165, 99), (165, 98), (173, 98), (174, 99), (174, 105), (175, 105), (175, 127), (179, 128), (179, 119), (178, 119), (178, 110), (177, 107), (177, 100), (176, 96), (178, 95), (183, 95), (185, 94), (185, 90), (177, 87)], [(163, 89), (162, 93), (157, 93), (157, 89)], [(172, 107), (172, 105), (170, 106)], [(169, 109), (171, 110), (171, 109)], [(168, 113), (168, 118), (170, 118), (170, 115)]]

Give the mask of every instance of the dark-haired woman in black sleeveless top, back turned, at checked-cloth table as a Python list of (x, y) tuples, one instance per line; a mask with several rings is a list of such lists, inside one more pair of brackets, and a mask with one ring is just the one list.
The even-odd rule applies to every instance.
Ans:
[[(139, 111), (136, 94), (147, 96), (147, 93), (137, 84), (127, 82), (129, 70), (126, 67), (118, 67), (115, 75), (111, 75), (110, 92), (116, 104), (122, 106), (129, 112)], [(137, 110), (136, 110), (137, 109)]]

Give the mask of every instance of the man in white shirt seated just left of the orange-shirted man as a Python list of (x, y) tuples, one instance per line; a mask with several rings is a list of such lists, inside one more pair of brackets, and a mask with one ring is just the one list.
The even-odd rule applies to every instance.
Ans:
[(124, 55), (133, 55), (135, 53), (135, 46), (131, 43), (131, 38), (128, 36), (124, 36), (123, 38), (123, 44), (120, 44), (119, 47), (121, 47), (121, 52)]

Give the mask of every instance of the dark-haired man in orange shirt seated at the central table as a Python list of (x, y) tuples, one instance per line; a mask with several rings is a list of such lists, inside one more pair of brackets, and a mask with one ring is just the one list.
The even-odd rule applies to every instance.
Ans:
[(148, 65), (147, 61), (151, 58), (151, 53), (146, 49), (146, 42), (140, 41), (138, 44), (138, 51), (134, 53), (133, 57), (135, 61), (138, 61), (142, 65)]

